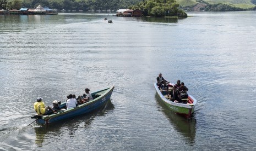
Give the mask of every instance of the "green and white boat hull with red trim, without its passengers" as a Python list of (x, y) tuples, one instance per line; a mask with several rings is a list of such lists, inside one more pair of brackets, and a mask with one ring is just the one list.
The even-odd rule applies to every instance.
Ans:
[[(195, 104), (197, 104), (197, 100), (192, 95), (188, 94), (188, 100), (187, 104), (183, 103), (176, 103), (172, 102), (171, 100), (168, 100), (166, 96), (162, 95), (161, 91), (159, 90), (156, 83), (154, 84), (155, 89), (159, 97), (161, 98), (161, 101), (164, 102), (164, 104), (173, 112), (177, 114), (181, 114), (186, 118), (190, 118), (191, 115), (194, 113)], [(173, 86), (173, 84), (168, 84), (168, 86)]]

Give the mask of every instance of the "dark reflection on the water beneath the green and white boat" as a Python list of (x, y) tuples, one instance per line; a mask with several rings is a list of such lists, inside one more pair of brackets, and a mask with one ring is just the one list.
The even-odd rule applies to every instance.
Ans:
[(155, 99), (157, 100), (157, 104), (162, 107), (162, 112), (165, 113), (166, 117), (170, 120), (170, 123), (173, 124), (175, 129), (184, 136), (184, 140), (186, 140), (186, 142), (188, 142), (189, 144), (193, 145), (195, 140), (196, 119), (194, 117), (186, 119), (181, 115), (170, 111), (161, 101), (157, 93), (155, 95)]

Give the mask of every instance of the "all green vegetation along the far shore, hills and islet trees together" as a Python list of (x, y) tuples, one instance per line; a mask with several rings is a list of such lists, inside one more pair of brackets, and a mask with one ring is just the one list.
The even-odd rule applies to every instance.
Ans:
[[(177, 2), (176, 2), (177, 1)], [(183, 16), (179, 9), (194, 11), (255, 10), (256, 0), (0, 0), (0, 9), (36, 8), (38, 5), (51, 9), (66, 10), (117, 10), (139, 8), (144, 15)], [(171, 6), (172, 5), (172, 6)], [(169, 11), (169, 13), (168, 13)], [(186, 15), (185, 15), (186, 16)]]

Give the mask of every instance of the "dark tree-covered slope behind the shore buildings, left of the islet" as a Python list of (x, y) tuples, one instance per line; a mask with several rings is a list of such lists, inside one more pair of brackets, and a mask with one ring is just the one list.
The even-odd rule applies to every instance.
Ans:
[[(128, 8), (141, 0), (0, 0), (0, 9), (36, 8), (38, 5), (51, 9), (107, 10)], [(6, 4), (2, 4), (5, 2)]]

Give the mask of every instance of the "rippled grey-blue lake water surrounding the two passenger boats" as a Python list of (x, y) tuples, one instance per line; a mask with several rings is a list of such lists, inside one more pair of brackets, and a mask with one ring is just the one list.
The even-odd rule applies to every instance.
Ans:
[[(256, 12), (188, 15), (0, 15), (0, 150), (255, 150)], [(160, 72), (198, 100), (191, 119), (160, 102)], [(28, 126), (36, 97), (112, 85), (99, 111)]]

